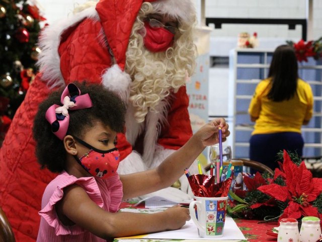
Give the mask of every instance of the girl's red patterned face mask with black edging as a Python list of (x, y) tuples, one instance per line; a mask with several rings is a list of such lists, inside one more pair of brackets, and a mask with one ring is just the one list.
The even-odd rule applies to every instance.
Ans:
[(82, 157), (76, 156), (76, 161), (81, 164), (94, 177), (106, 179), (116, 174), (120, 163), (120, 153), (117, 148), (109, 150), (99, 150), (86, 143), (85, 141), (74, 137), (79, 143), (89, 148), (90, 151)]

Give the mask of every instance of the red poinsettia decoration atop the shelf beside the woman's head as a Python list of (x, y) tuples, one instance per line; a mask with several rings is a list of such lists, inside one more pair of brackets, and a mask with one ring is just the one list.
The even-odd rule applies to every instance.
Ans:
[(319, 59), (322, 56), (322, 37), (307, 42), (301, 39), (297, 43), (291, 40), (286, 41), (286, 43), (294, 47), (296, 58), (299, 62), (307, 62), (307, 57)]

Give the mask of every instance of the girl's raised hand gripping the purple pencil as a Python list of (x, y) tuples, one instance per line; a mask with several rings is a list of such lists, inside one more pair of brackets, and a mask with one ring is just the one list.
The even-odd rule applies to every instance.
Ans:
[(197, 131), (204, 146), (219, 143), (219, 127), (222, 132), (222, 142), (224, 142), (226, 141), (226, 137), (230, 135), (228, 124), (226, 124), (226, 120), (224, 118), (215, 118)]

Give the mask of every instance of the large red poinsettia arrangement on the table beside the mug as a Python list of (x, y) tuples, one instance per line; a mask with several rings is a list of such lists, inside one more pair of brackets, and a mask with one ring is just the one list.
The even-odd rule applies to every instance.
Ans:
[(234, 217), (277, 220), (315, 216), (322, 220), (322, 178), (313, 178), (296, 154), (285, 150), (274, 176), (257, 172), (244, 177), (247, 191), (230, 193), (227, 208)]

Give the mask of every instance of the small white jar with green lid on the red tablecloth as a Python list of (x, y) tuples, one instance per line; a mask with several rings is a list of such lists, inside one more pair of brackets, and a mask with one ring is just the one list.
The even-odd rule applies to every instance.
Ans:
[(320, 220), (317, 217), (307, 216), (302, 218), (300, 229), (301, 242), (315, 242), (321, 238)]

